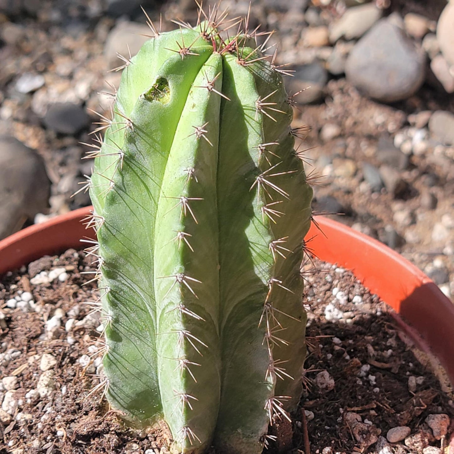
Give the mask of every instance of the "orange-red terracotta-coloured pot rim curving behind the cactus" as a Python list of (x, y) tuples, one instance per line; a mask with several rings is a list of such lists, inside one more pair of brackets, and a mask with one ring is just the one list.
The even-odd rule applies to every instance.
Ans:
[[(43, 255), (81, 248), (93, 237), (80, 222), (91, 207), (27, 227), (0, 241), (0, 274)], [(312, 224), (306, 238), (321, 260), (355, 273), (402, 317), (401, 326), (420, 348), (434, 353), (454, 384), (454, 305), (416, 266), (382, 243), (331, 219), (317, 217), (324, 235)], [(403, 321), (405, 320), (405, 322)], [(408, 324), (406, 323), (408, 322)]]

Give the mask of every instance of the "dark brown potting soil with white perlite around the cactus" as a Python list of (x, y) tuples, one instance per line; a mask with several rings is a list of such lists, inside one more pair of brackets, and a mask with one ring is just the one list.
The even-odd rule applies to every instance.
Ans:
[[(427, 444), (440, 447), (424, 423), (433, 413), (454, 416), (438, 380), (402, 341), (395, 319), (377, 296), (370, 295), (350, 272), (322, 263), (317, 266), (322, 271), (304, 275), (308, 281), (309, 355), (301, 406), (291, 415), (291, 426), (283, 420), (270, 429), (278, 437), (276, 441), (267, 439), (270, 452), (301, 453), (307, 428), (312, 454), (376, 453), (380, 431), (386, 436), (389, 429), (400, 425), (410, 427), (411, 434), (424, 431), (429, 434)], [(39, 271), (62, 267), (68, 274), (65, 281), (30, 283)], [(109, 411), (102, 387), (90, 394), (102, 380), (96, 375), (99, 368), (96, 371), (93, 366), (99, 364), (100, 356), (95, 347), (100, 336), (99, 314), (90, 315), (83, 304), (96, 298), (93, 282), (82, 286), (91, 278), (82, 273), (93, 269), (90, 256), (68, 250), (60, 257), (32, 263), (28, 272), (23, 267), (21, 272), (8, 273), (0, 283), (0, 307), (5, 316), (0, 325), (4, 326), (0, 328), (0, 376), (18, 378), (14, 414), (0, 414), (2, 454), (168, 452), (170, 439), (164, 427), (148, 432), (128, 429), (117, 413)], [(33, 294), (33, 310), (6, 306), (21, 291)], [(61, 326), (49, 331), (46, 326), (56, 314), (61, 315)], [(340, 318), (326, 320), (333, 314)], [(70, 318), (75, 321), (68, 329)], [(14, 354), (14, 349), (20, 353)], [(26, 395), (37, 388), (43, 374), (41, 356), (46, 353), (56, 359), (51, 369), (54, 389), (33, 400)], [(79, 360), (87, 354), (92, 356), (91, 362), (82, 365)], [(320, 387), (317, 374), (323, 371), (334, 380), (331, 390), (329, 385), (325, 390)], [(417, 377), (413, 390), (409, 390), (410, 376)], [(350, 413), (360, 415), (367, 430), (352, 427)]]

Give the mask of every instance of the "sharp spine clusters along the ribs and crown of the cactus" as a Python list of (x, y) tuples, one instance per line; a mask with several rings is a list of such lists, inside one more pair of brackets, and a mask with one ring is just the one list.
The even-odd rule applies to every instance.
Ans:
[[(196, 0), (197, 2), (197, 0)], [(227, 32), (228, 35), (228, 30), (237, 26), (238, 25), (238, 32), (233, 38), (228, 38), (228, 39), (222, 39), (220, 32), (217, 31), (220, 29), (223, 23), (225, 23), (227, 13), (224, 11), (221, 14), (219, 14), (219, 11), (217, 8), (213, 10), (209, 10), (208, 15), (204, 12), (202, 9), (202, 5), (199, 5), (199, 13), (198, 13), (198, 21), (197, 21), (197, 26), (200, 27), (200, 36), (202, 36), (206, 41), (210, 42), (213, 45), (214, 51), (219, 53), (219, 54), (225, 54), (225, 53), (230, 53), (230, 54), (235, 54), (237, 56), (237, 63), (247, 67), (250, 66), (254, 63), (257, 63), (260, 60), (263, 59), (268, 59), (271, 58), (271, 69), (275, 70), (276, 72), (279, 72), (282, 75), (289, 75), (291, 76), (292, 71), (289, 69), (284, 69), (286, 65), (276, 65), (275, 60), (276, 60), (276, 52), (272, 55), (264, 55), (261, 56), (261, 53), (268, 50), (269, 47), (266, 47), (268, 43), (268, 39), (271, 37), (273, 32), (266, 32), (266, 33), (257, 33), (258, 28), (253, 30), (252, 32), (249, 32), (247, 30), (248, 28), (248, 22), (249, 22), (249, 12), (246, 18), (243, 19), (233, 19), (231, 23), (225, 27), (224, 31)], [(146, 13), (145, 13), (146, 14)], [(176, 23), (180, 27), (185, 27), (185, 28), (192, 28), (189, 24), (182, 22), (182, 21), (176, 21)], [(150, 27), (150, 30), (152, 30), (153, 35), (150, 35), (150, 38), (154, 38), (160, 34), (158, 30), (155, 28), (153, 25), (153, 22), (150, 20), (150, 18), (147, 15), (147, 24)], [(241, 28), (241, 27), (244, 28)], [(252, 49), (252, 51), (248, 51), (245, 53), (245, 49), (249, 49), (249, 46), (247, 45), (247, 39), (257, 39), (257, 36), (259, 35), (267, 35), (265, 41), (263, 44), (258, 45), (256, 48)], [(181, 36), (181, 41), (176, 42), (178, 49), (168, 49), (173, 52), (177, 52), (178, 54), (181, 55), (181, 58), (184, 59), (188, 55), (192, 56), (198, 56), (197, 53), (193, 52), (192, 45), (195, 43), (195, 41), (189, 45), (186, 45), (183, 39), (183, 34)], [(131, 56), (129, 55), (129, 58), (123, 57), (119, 55), (119, 58), (123, 61), (123, 65), (119, 66), (115, 70), (121, 70), (121, 69), (128, 69), (129, 64), (131, 64)], [(202, 86), (197, 86), (194, 88), (203, 88), (207, 89), (208, 92), (214, 92), (221, 96), (222, 98), (226, 99), (227, 101), (229, 100), (226, 95), (222, 94), (220, 91), (215, 89), (215, 82), (217, 78), (219, 77), (219, 74), (217, 74), (213, 79), (209, 79), (205, 77), (206, 79), (206, 85)], [(113, 88), (113, 93), (109, 93), (109, 96), (112, 97), (114, 100), (116, 100), (117, 96), (117, 91), (114, 87)], [(275, 116), (277, 114), (284, 114), (284, 112), (280, 109), (277, 109), (275, 106), (277, 103), (271, 102), (271, 97), (276, 93), (277, 90), (267, 94), (266, 96), (258, 97), (255, 108), (255, 117), (257, 119), (258, 115), (266, 116), (267, 118), (271, 119), (272, 121), (276, 122)], [(295, 95), (293, 95), (295, 96)], [(287, 99), (288, 104), (294, 105), (293, 97), (289, 97)], [(88, 144), (86, 143), (85, 145), (89, 146), (91, 150), (87, 152), (86, 158), (103, 158), (106, 156), (113, 156), (115, 157), (115, 160), (113, 161), (110, 166), (114, 167), (113, 174), (117, 172), (118, 169), (122, 169), (123, 166), (123, 158), (124, 158), (124, 152), (122, 148), (115, 143), (111, 138), (108, 138), (107, 141), (104, 141), (99, 135), (99, 133), (103, 132), (104, 130), (107, 130), (110, 128), (110, 130), (113, 133), (116, 133), (118, 131), (124, 130), (124, 133), (128, 130), (133, 130), (134, 125), (131, 119), (127, 118), (122, 112), (120, 112), (118, 109), (115, 111), (111, 111), (112, 119), (109, 119), (108, 117), (104, 116), (104, 114), (100, 114), (98, 112), (93, 111), (94, 114), (99, 116), (99, 121), (95, 123), (96, 128), (92, 132), (95, 135), (94, 138), (94, 143), (93, 144)], [(212, 143), (210, 140), (207, 138), (207, 133), (208, 133), (208, 122), (201, 124), (201, 125), (193, 125), (194, 132), (191, 135), (194, 135), (197, 139), (203, 139), (207, 141), (210, 145)], [(304, 133), (306, 132), (305, 127), (301, 128), (293, 128), (290, 130), (290, 133), (295, 136), (295, 137), (301, 137)], [(188, 136), (189, 137), (189, 136)], [(105, 149), (102, 149), (102, 147), (108, 147), (110, 152), (107, 153)], [(265, 219), (267, 219), (270, 222), (276, 223), (276, 220), (282, 216), (284, 216), (284, 212), (279, 210), (279, 206), (281, 203), (283, 203), (283, 200), (277, 200), (276, 199), (276, 194), (279, 195), (280, 197), (283, 197), (285, 199), (289, 199), (290, 195), (281, 189), (279, 186), (277, 186), (275, 183), (273, 183), (273, 177), (278, 177), (281, 175), (284, 175), (286, 173), (295, 173), (296, 171), (282, 171), (279, 172), (279, 169), (277, 168), (280, 164), (281, 161), (271, 165), (271, 158), (275, 157), (278, 158), (278, 155), (272, 151), (272, 147), (279, 145), (278, 142), (269, 142), (269, 143), (262, 143), (258, 145), (257, 151), (259, 153), (259, 160), (260, 160), (260, 168), (265, 167), (265, 163), (268, 164), (268, 168), (262, 170), (261, 173), (257, 175), (257, 178), (255, 179), (254, 183), (251, 186), (251, 190), (255, 188), (257, 191), (257, 202), (260, 203), (262, 202), (262, 206), (260, 207), (260, 210), (262, 212), (262, 220), (265, 222)], [(295, 151), (294, 152), (298, 157), (301, 158), (302, 152)], [(110, 167), (109, 166), (109, 167)], [(186, 178), (186, 183), (189, 183), (191, 180), (194, 180), (197, 182), (197, 170), (194, 169), (193, 167), (185, 169), (185, 175), (184, 178)], [(104, 195), (107, 194), (107, 192), (111, 190), (115, 190), (114, 188), (114, 178), (112, 176), (104, 176), (99, 174), (101, 178), (104, 178), (106, 180), (105, 183), (99, 186), (103, 186), (104, 188)], [(92, 179), (90, 176), (86, 176), (87, 181), (86, 183), (83, 183), (84, 186), (79, 189), (78, 192), (81, 191), (88, 191), (90, 188), (93, 188), (93, 183)], [(314, 177), (315, 179), (315, 177)], [(308, 178), (310, 180), (310, 176)], [(169, 197), (169, 198), (174, 198), (176, 200), (175, 205), (173, 208), (179, 207), (180, 209), (180, 217), (183, 216), (190, 216), (192, 217), (193, 221), (197, 224), (197, 217), (195, 210), (192, 209), (192, 203), (197, 201), (197, 200), (203, 200), (200, 197), (186, 197), (186, 196), (181, 196), (181, 197)], [(269, 199), (268, 201), (266, 199)], [(262, 200), (261, 200), (262, 199)], [(95, 231), (98, 231), (104, 224), (104, 217), (93, 213), (92, 216), (84, 220), (86, 223), (86, 227), (93, 227)], [(191, 235), (187, 232), (183, 231), (177, 231), (175, 232), (175, 237), (173, 238), (173, 241), (178, 242), (178, 247), (182, 245), (183, 243), (188, 247), (188, 249), (191, 252), (194, 252), (191, 243), (190, 243), (190, 237)], [(276, 262), (277, 257), (282, 257), (283, 259), (286, 259), (288, 254), (292, 253), (292, 251), (288, 248), (286, 248), (286, 239), (287, 237), (281, 237), (281, 238), (276, 238), (272, 240), (269, 244), (269, 250), (271, 252), (271, 255), (273, 257), (273, 260)], [(99, 244), (93, 240), (83, 240), (86, 242), (90, 243), (90, 246), (87, 248), (87, 253), (95, 256), (96, 260), (95, 262), (98, 263), (97, 270), (94, 272), (95, 276), (92, 279), (94, 280), (102, 280), (102, 266), (104, 265), (104, 261), (99, 253)], [(306, 243), (302, 245), (303, 250), (305, 250)], [(310, 251), (306, 249), (306, 253), (310, 254)], [(172, 291), (173, 287), (178, 285), (180, 290), (182, 286), (188, 289), (192, 293), (192, 295), (197, 298), (196, 292), (193, 290), (192, 286), (193, 283), (198, 283), (201, 284), (202, 282), (196, 279), (195, 277), (185, 275), (184, 273), (177, 273), (175, 275), (169, 275), (169, 276), (160, 276), (159, 279), (169, 279), (172, 280), (172, 283), (169, 286), (168, 292), (166, 293), (165, 296), (168, 295), (170, 291)], [(288, 345), (288, 343), (282, 339), (279, 335), (280, 331), (284, 330), (284, 327), (282, 326), (281, 322), (278, 320), (276, 317), (276, 314), (280, 314), (281, 316), (286, 316), (293, 318), (296, 320), (294, 317), (292, 317), (289, 314), (286, 314), (283, 311), (280, 311), (276, 308), (273, 307), (272, 301), (271, 301), (271, 293), (273, 286), (279, 286), (283, 288), (286, 291), (291, 292), (290, 289), (288, 289), (281, 280), (279, 280), (276, 277), (272, 277), (270, 281), (268, 282), (268, 292), (266, 294), (266, 298), (264, 301), (263, 305), (263, 310), (262, 310), (262, 316), (258, 322), (258, 327), (265, 326), (264, 330), (264, 337), (263, 337), (263, 344), (266, 344), (266, 348), (268, 351), (269, 355), (269, 366), (268, 369), (266, 370), (266, 376), (264, 377), (265, 380), (271, 379), (273, 383), (276, 382), (276, 378), (284, 379), (284, 377), (291, 378), (291, 375), (286, 373), (285, 367), (282, 367), (282, 365), (286, 361), (281, 361), (279, 359), (274, 359), (273, 357), (273, 346), (279, 346), (280, 344), (282, 345)], [(95, 301), (91, 301), (91, 304), (93, 306), (94, 311), (99, 311), (101, 313), (101, 320), (104, 322), (104, 329), (106, 326), (108, 326), (112, 318), (109, 315), (109, 313), (103, 308), (103, 305), (101, 303), (101, 300), (107, 293), (109, 293), (110, 289), (109, 287), (100, 287), (101, 290), (101, 296)], [(164, 296), (164, 297), (165, 297)], [(175, 307), (173, 310), (179, 311), (179, 314), (181, 317), (184, 316), (189, 316), (192, 317), (196, 320), (204, 321), (204, 319), (201, 316), (198, 316), (195, 312), (191, 311), (188, 307), (184, 305), (178, 305)], [(200, 345), (205, 346), (208, 348), (208, 345), (206, 345), (203, 341), (198, 339), (196, 336), (193, 336), (190, 331), (188, 330), (180, 330), (180, 331), (173, 331), (174, 333), (178, 334), (178, 345), (182, 345), (184, 341), (187, 341), (192, 347), (200, 354), (199, 348)], [(104, 331), (103, 331), (104, 333)], [(172, 334), (172, 333), (161, 333), (161, 334)], [(108, 347), (104, 343), (101, 343), (101, 346), (99, 347), (99, 353), (102, 354), (103, 356), (108, 352)], [(194, 372), (192, 371), (192, 366), (200, 366), (195, 361), (190, 361), (187, 358), (184, 358), (183, 356), (179, 356), (178, 358), (172, 358), (177, 362), (177, 365), (175, 367), (175, 371), (179, 371), (181, 374), (183, 374), (184, 371), (187, 371), (188, 374), (192, 377), (194, 382), (197, 383), (196, 380), (196, 375), (194, 375)], [(99, 385), (97, 385), (91, 392), (96, 392), (98, 390), (103, 390), (103, 395), (107, 392), (109, 387), (109, 380), (106, 378), (104, 380), (101, 380)], [(192, 395), (185, 394), (181, 391), (174, 390), (175, 398), (178, 399), (178, 404), (176, 408), (181, 405), (182, 411), (185, 410), (185, 408), (189, 408), (192, 410), (192, 401), (197, 401), (197, 398)], [(272, 396), (269, 398), (269, 400), (266, 401), (264, 410), (266, 410), (266, 413), (269, 416), (270, 419), (270, 424), (273, 423), (273, 419), (275, 416), (281, 417), (284, 416), (285, 418), (289, 419), (289, 416), (287, 415), (286, 411), (283, 410), (283, 403), (290, 399), (289, 396)], [(200, 440), (197, 437), (197, 434), (193, 432), (193, 430), (190, 427), (182, 427), (180, 429), (180, 432), (178, 434), (180, 441), (184, 442), (186, 439), (188, 442), (192, 445), (195, 440)], [(262, 440), (263, 443), (266, 444), (266, 439)]]

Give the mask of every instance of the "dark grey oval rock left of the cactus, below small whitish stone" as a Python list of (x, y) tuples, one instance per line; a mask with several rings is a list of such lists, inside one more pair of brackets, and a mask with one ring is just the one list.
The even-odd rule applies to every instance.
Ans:
[(44, 126), (57, 133), (74, 135), (87, 128), (90, 118), (84, 108), (73, 103), (50, 104), (44, 116)]

